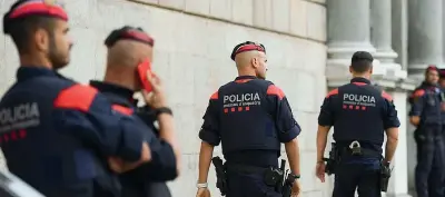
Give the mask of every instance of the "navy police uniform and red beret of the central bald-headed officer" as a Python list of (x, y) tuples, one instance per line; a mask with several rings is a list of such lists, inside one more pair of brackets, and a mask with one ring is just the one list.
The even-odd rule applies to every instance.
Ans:
[[(235, 47), (231, 59), (264, 46), (246, 42)], [(273, 82), (254, 76), (239, 76), (221, 86), (209, 100), (199, 138), (222, 145), (228, 197), (278, 197), (265, 184), (267, 169), (278, 167), (280, 142), (295, 139), (300, 127), (295, 121), (284, 92)]]

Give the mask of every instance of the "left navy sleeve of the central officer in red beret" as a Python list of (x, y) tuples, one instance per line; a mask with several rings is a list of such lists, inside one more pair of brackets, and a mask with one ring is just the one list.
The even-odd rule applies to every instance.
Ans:
[(206, 114), (202, 117), (204, 124), (199, 131), (199, 138), (212, 146), (221, 141), (218, 120), (218, 92), (215, 92), (209, 100)]

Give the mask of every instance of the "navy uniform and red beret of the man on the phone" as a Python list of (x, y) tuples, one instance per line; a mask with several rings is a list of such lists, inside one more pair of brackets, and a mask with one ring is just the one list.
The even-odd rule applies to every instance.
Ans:
[[(110, 48), (118, 40), (134, 40), (154, 46), (154, 39), (140, 28), (123, 27), (113, 30), (105, 41)], [(128, 88), (102, 81), (90, 81), (90, 86), (98, 89), (111, 102), (115, 110), (135, 117), (147, 127), (145, 134), (151, 150), (151, 161), (120, 176), (122, 196), (131, 197), (170, 197), (171, 194), (165, 181), (174, 180), (177, 175), (176, 157), (172, 147), (162, 139), (157, 138), (158, 129), (155, 127), (156, 116), (159, 112), (149, 107), (138, 108), (134, 100), (135, 91)]]

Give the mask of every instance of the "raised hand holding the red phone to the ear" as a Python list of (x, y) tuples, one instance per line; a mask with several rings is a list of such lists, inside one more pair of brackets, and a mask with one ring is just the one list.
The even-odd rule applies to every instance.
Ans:
[(155, 109), (166, 107), (167, 99), (166, 99), (166, 93), (164, 90), (162, 81), (154, 72), (147, 73), (147, 80), (150, 82), (151, 88), (152, 88), (151, 92), (147, 92), (147, 91), (142, 90), (142, 96), (144, 96), (144, 99), (146, 100), (147, 105), (149, 105), (151, 108), (155, 108)]

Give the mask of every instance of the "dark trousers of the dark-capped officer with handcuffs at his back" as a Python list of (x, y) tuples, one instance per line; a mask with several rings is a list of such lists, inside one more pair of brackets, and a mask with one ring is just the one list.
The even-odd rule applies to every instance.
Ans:
[(380, 197), (380, 170), (376, 165), (337, 165), (333, 197), (354, 197), (356, 189), (359, 197)]

